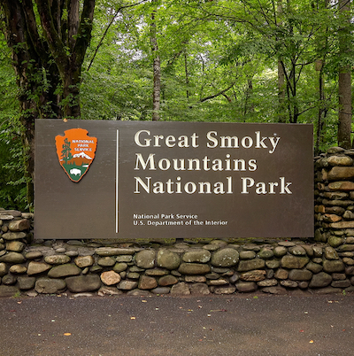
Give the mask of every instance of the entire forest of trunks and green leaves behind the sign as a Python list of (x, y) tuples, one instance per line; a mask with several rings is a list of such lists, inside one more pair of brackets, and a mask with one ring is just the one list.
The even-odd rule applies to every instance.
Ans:
[(0, 0), (0, 207), (33, 209), (35, 118), (312, 123), (350, 148), (350, 0)]

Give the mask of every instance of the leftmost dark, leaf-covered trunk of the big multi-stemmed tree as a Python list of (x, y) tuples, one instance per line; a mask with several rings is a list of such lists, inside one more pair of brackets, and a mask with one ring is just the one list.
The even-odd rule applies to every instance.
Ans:
[(50, 85), (44, 89), (46, 86), (43, 85), (42, 76), (46, 75), (47, 69), (50, 68), (50, 60), (41, 58), (42, 43), (33, 28), (33, 9), (28, 8), (27, 1), (22, 5), (19, 0), (0, 0), (0, 5), (5, 14), (4, 32), (6, 42), (12, 49), (12, 63), (19, 87), (19, 121), (22, 124), (27, 205), (32, 208), (35, 182), (35, 119), (55, 117), (52, 108), (58, 104), (54, 95), (57, 87)]

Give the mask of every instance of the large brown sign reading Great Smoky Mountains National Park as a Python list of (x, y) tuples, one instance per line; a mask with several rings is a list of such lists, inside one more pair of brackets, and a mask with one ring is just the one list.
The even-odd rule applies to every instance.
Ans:
[(311, 125), (35, 122), (35, 238), (311, 236)]

